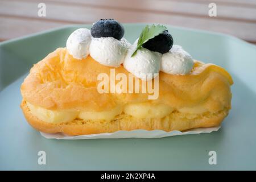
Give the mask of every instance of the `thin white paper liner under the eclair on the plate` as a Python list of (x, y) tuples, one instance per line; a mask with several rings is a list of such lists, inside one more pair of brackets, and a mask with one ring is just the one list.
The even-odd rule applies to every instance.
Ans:
[(78, 135), (70, 137), (63, 133), (49, 134), (40, 132), (41, 135), (48, 139), (65, 139), (65, 140), (77, 140), (77, 139), (99, 139), (99, 138), (163, 138), (171, 137), (176, 135), (190, 135), (190, 134), (200, 134), (200, 133), (211, 133), (212, 131), (218, 131), (221, 126), (216, 127), (205, 127), (181, 131), (163, 131), (163, 130), (132, 130), (132, 131), (116, 131), (114, 133), (100, 133), (100, 134), (90, 134), (90, 135)]

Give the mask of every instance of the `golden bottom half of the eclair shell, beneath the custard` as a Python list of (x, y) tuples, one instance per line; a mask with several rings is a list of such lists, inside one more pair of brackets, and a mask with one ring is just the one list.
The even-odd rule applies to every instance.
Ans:
[(22, 101), (20, 105), (23, 113), (32, 127), (44, 133), (64, 133), (70, 136), (113, 133), (119, 130), (189, 130), (199, 127), (218, 126), (222, 120), (228, 115), (229, 108), (218, 111), (217, 113), (206, 112), (203, 114), (188, 114), (173, 111), (164, 118), (134, 118), (128, 114), (120, 114), (110, 121), (98, 120), (82, 120), (74, 119), (64, 123), (48, 123), (40, 120), (31, 114), (26, 101)]

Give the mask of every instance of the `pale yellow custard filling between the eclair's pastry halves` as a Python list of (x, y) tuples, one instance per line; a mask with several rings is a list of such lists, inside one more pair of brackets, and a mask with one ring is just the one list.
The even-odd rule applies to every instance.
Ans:
[[(124, 112), (135, 118), (163, 118), (171, 114), (174, 111), (173, 107), (165, 104), (150, 104), (148, 102), (126, 104), (125, 106), (117, 106), (108, 111), (53, 111), (44, 109), (39, 106), (32, 105), (27, 102), (27, 106), (30, 109), (32, 115), (35, 115), (44, 122), (60, 123), (73, 121), (76, 118), (83, 120), (112, 120), (117, 115)], [(202, 105), (195, 107), (183, 107), (177, 109), (181, 113), (194, 113), (200, 114), (207, 111)]]

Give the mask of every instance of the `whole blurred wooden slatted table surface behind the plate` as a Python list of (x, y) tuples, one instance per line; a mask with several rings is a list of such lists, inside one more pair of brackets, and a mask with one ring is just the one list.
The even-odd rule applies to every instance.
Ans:
[(0, 0), (0, 42), (101, 18), (222, 32), (256, 44), (256, 0)]

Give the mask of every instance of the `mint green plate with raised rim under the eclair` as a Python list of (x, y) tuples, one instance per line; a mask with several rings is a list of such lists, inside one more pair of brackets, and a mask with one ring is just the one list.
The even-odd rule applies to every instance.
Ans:
[[(134, 42), (145, 24), (124, 24)], [(232, 36), (168, 26), (175, 44), (233, 77), (232, 110), (219, 131), (158, 139), (46, 139), (26, 122), (20, 84), (32, 64), (79, 27), (57, 28), (0, 43), (0, 169), (256, 169), (256, 47)], [(18, 30), (17, 30), (18, 31)], [(38, 152), (46, 152), (46, 165)], [(216, 151), (217, 164), (208, 163)]]

